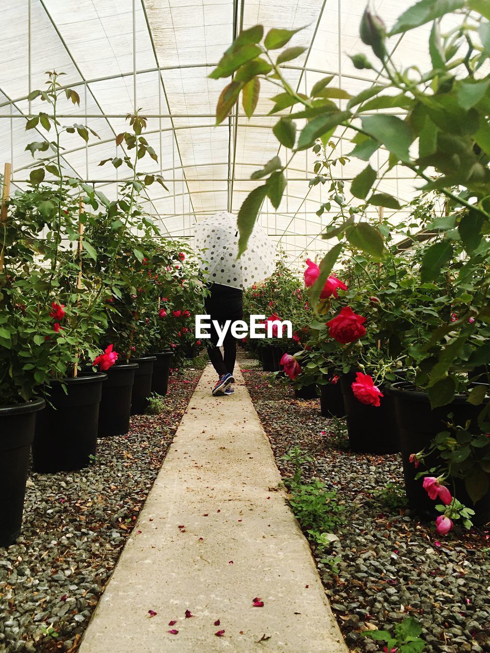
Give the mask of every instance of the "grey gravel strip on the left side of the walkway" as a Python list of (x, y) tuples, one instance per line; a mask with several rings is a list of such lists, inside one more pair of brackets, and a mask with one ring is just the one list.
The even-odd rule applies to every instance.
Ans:
[(99, 439), (90, 468), (29, 474), (22, 535), (0, 549), (1, 652), (76, 650), (200, 376), (171, 377), (163, 413)]

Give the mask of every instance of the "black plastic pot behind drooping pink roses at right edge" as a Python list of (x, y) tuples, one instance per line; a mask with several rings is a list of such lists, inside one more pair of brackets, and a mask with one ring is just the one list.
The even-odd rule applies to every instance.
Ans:
[[(422, 479), (416, 480), (415, 465), (409, 460), (410, 454), (417, 453), (429, 446), (431, 440), (441, 431), (446, 430), (449, 413), (453, 414), (451, 421), (459, 426), (465, 426), (470, 421), (470, 431), (478, 433), (478, 415), (482, 406), (472, 406), (466, 401), (465, 395), (454, 398), (451, 404), (431, 409), (426, 392), (417, 392), (410, 383), (400, 381), (389, 387), (389, 394), (395, 403), (395, 416), (400, 435), (403, 475), (405, 479), (406, 496), (412, 510), (421, 517), (432, 519), (439, 515), (435, 509), (438, 502), (429, 498), (422, 487)], [(442, 464), (441, 458), (434, 453), (425, 458), (427, 469)], [(466, 506), (475, 511), (472, 522), (476, 525), (490, 521), (490, 491), (475, 505), (468, 496), (464, 481), (456, 479), (456, 496)], [(452, 492), (452, 488), (451, 488)]]

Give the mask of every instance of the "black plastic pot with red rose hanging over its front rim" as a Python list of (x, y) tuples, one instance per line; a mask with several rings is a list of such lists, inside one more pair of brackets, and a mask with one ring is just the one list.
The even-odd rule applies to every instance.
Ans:
[(352, 392), (354, 380), (353, 373), (340, 377), (351, 450), (357, 453), (397, 453), (400, 443), (393, 398), (384, 392), (380, 406), (362, 404)]

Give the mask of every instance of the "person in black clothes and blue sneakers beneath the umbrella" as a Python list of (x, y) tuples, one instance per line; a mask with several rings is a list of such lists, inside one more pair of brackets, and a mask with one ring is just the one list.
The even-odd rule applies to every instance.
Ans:
[(235, 360), (237, 360), (237, 340), (231, 334), (231, 329), (228, 329), (223, 339), (223, 353), (221, 353), (221, 349), (218, 347), (218, 332), (214, 327), (213, 320), (216, 320), (221, 328), (227, 320), (232, 323), (241, 320), (243, 317), (243, 290), (221, 283), (212, 283), (210, 295), (206, 297), (204, 306), (206, 313), (211, 318), (208, 356), (218, 374), (218, 381), (212, 389), (212, 395), (235, 394), (233, 370), (235, 369)]

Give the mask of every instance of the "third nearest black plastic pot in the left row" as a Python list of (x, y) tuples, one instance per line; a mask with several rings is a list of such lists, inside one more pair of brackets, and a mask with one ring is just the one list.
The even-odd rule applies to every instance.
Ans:
[(105, 374), (99, 407), (99, 438), (122, 436), (129, 431), (131, 398), (137, 363), (112, 365)]

